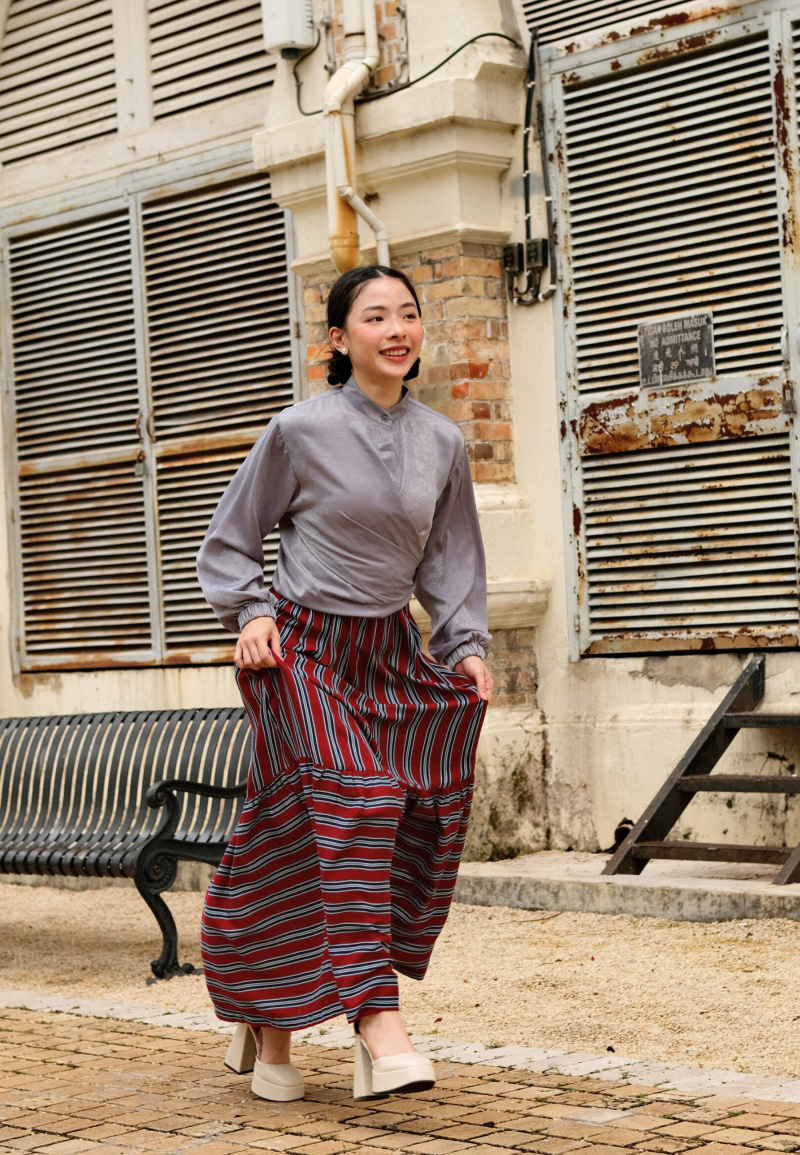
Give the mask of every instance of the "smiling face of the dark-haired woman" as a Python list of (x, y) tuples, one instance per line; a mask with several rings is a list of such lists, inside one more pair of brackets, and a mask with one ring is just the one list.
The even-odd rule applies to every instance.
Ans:
[(331, 329), (330, 340), (347, 350), (357, 381), (402, 381), (423, 348), (423, 322), (403, 282), (377, 277), (366, 283), (345, 327)]

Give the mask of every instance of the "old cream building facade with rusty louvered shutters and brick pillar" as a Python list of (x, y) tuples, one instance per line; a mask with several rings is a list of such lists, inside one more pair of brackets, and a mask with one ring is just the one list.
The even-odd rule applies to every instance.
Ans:
[[(6, 0), (5, 715), (237, 703), (194, 554), (270, 416), (326, 387), (343, 9), (314, 0), (283, 59), (251, 0)], [(357, 191), (418, 288), (414, 393), (464, 433), (487, 551), (469, 852), (597, 849), (750, 653), (770, 705), (800, 693), (800, 3), (376, 15)], [(794, 772), (791, 733), (738, 744)], [(800, 817), (695, 802), (679, 833), (791, 844)]]

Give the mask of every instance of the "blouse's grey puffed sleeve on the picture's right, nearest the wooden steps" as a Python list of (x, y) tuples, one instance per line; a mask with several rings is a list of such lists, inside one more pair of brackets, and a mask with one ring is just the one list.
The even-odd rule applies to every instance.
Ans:
[(436, 511), (414, 594), (431, 616), (429, 649), (453, 669), (470, 654), (486, 657), (492, 635), (486, 613), (486, 561), (470, 464), (462, 445)]

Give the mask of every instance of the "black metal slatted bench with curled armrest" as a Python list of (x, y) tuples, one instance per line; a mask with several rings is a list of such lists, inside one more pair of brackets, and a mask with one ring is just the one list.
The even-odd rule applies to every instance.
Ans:
[(217, 866), (247, 787), (244, 709), (0, 718), (0, 873), (132, 878), (178, 962), (162, 893), (179, 859)]

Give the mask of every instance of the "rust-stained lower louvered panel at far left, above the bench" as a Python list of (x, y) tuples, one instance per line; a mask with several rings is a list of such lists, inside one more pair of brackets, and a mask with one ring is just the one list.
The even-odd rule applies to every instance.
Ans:
[(133, 465), (20, 480), (25, 649), (124, 663), (150, 646), (144, 498)]

